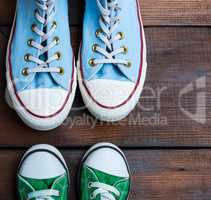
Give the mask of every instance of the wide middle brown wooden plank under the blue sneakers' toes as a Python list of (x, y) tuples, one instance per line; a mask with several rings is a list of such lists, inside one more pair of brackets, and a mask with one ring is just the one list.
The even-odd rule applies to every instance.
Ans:
[[(147, 28), (149, 65), (145, 90), (136, 109), (118, 123), (96, 121), (85, 109), (78, 90), (66, 122), (50, 132), (52, 134), (40, 134), (26, 127), (8, 108), (2, 87), (0, 146), (30, 146), (45, 142), (73, 147), (98, 141), (112, 141), (128, 147), (211, 146), (210, 34), (209, 28)], [(80, 38), (76, 28), (72, 29), (72, 35), (76, 48)], [(201, 88), (196, 88), (196, 80), (203, 83), (203, 78), (206, 78), (206, 87), (202, 84), (199, 85)], [(190, 83), (194, 90), (182, 96), (182, 107), (193, 114), (196, 108), (199, 111), (205, 109), (204, 124), (200, 121), (203, 116), (195, 116), (195, 121), (179, 106), (179, 94)], [(206, 95), (204, 105), (199, 100), (196, 106), (197, 95)]]

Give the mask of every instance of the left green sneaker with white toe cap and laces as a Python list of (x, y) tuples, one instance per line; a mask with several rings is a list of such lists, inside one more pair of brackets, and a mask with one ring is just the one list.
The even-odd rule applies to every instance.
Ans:
[(17, 190), (20, 200), (67, 200), (69, 174), (61, 153), (50, 145), (29, 149), (19, 165)]

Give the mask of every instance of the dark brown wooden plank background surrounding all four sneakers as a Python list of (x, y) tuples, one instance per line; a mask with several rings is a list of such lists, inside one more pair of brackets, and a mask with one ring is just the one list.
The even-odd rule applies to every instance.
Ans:
[[(121, 122), (102, 123), (88, 113), (78, 91), (69, 118), (50, 133), (26, 127), (4, 101), (5, 52), (15, 3), (0, 0), (0, 200), (15, 199), (16, 167), (23, 152), (37, 143), (62, 150), (72, 174), (71, 199), (76, 199), (78, 162), (90, 145), (101, 141), (119, 145), (128, 157), (133, 173), (130, 200), (210, 200), (211, 0), (140, 0), (148, 72), (136, 109)], [(75, 52), (83, 4), (69, 2)], [(197, 80), (205, 85), (198, 88)], [(189, 84), (193, 90), (180, 98)], [(194, 114), (198, 108), (205, 115), (191, 118), (180, 101), (187, 112)]]

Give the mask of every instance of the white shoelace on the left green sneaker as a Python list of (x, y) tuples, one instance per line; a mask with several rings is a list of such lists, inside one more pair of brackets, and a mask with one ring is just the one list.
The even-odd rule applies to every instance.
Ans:
[(59, 197), (59, 191), (50, 189), (31, 192), (28, 194), (27, 200), (34, 198), (36, 200), (54, 200), (53, 197)]

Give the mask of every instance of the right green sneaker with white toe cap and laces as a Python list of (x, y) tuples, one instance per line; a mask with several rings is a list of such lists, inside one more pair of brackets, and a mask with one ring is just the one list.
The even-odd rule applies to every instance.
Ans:
[(123, 152), (113, 144), (94, 145), (82, 159), (80, 200), (127, 200), (130, 170)]

